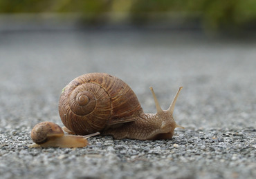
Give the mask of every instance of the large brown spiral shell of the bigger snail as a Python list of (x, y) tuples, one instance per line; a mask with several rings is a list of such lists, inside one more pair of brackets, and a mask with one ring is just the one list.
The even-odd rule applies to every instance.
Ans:
[(120, 78), (91, 73), (75, 78), (64, 87), (59, 113), (68, 129), (85, 135), (109, 125), (134, 121), (143, 109), (132, 89)]

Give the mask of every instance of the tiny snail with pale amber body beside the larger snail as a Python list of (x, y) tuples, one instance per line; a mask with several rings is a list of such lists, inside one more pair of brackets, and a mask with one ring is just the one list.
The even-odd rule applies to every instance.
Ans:
[(100, 133), (96, 132), (87, 136), (65, 135), (59, 125), (46, 121), (33, 127), (31, 138), (34, 143), (28, 147), (85, 147), (86, 145), (89, 145), (86, 138), (98, 134)]

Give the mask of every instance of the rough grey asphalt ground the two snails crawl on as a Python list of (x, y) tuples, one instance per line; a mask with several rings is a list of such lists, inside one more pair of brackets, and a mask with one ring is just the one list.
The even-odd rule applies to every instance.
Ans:
[[(199, 33), (0, 33), (0, 178), (256, 178), (256, 41)], [(149, 86), (185, 129), (173, 140), (90, 138), (81, 149), (30, 149), (30, 130), (62, 125), (62, 88), (89, 72), (127, 82), (145, 112)]]

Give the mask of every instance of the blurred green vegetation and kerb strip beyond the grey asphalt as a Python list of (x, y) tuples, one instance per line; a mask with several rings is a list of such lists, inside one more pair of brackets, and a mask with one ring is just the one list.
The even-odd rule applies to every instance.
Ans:
[(230, 34), (256, 28), (254, 0), (1, 0), (0, 13), (1, 29), (86, 25)]

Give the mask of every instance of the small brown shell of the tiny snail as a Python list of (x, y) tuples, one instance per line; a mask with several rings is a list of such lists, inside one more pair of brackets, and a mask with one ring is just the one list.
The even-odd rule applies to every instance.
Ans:
[(35, 127), (33, 127), (31, 131), (31, 138), (34, 143), (42, 144), (45, 143), (48, 137), (55, 136), (60, 137), (64, 136), (64, 132), (62, 131), (62, 128), (52, 122), (42, 122)]

